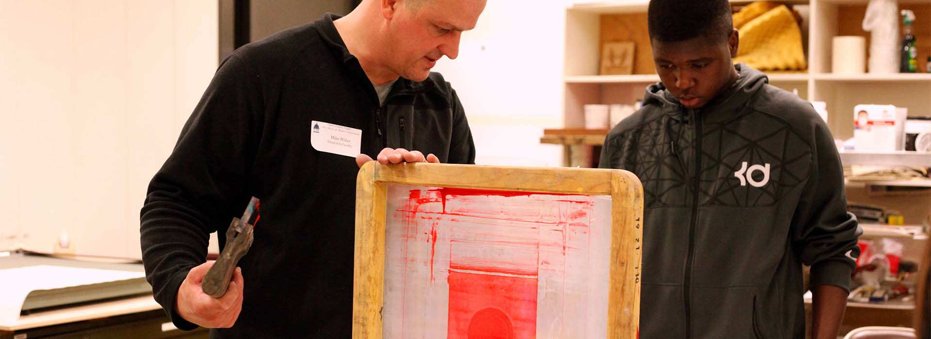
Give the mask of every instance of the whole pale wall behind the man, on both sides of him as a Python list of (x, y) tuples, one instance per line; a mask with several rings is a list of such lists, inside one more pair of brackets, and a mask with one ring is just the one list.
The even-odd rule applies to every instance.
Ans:
[[(437, 71), (478, 163), (560, 165), (564, 8), (489, 1)], [(0, 0), (0, 250), (139, 257), (148, 181), (217, 67), (215, 0)], [(215, 244), (214, 244), (215, 246)]]

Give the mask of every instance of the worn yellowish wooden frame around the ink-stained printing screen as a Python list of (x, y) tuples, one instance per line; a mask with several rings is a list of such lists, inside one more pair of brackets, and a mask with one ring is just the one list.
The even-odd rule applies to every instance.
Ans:
[(382, 339), (388, 185), (610, 195), (608, 338), (637, 337), (643, 239), (643, 188), (637, 176), (610, 169), (370, 162), (356, 181), (353, 338)]

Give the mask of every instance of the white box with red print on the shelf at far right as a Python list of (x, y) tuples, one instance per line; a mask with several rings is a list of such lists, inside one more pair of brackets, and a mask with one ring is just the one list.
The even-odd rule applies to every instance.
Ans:
[(854, 107), (856, 150), (904, 150), (908, 109), (893, 105)]

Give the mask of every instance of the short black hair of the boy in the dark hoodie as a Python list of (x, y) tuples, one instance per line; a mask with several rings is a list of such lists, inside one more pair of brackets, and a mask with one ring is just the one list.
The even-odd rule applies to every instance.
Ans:
[(650, 39), (675, 43), (703, 35), (726, 40), (734, 30), (727, 0), (650, 0), (647, 9)]

